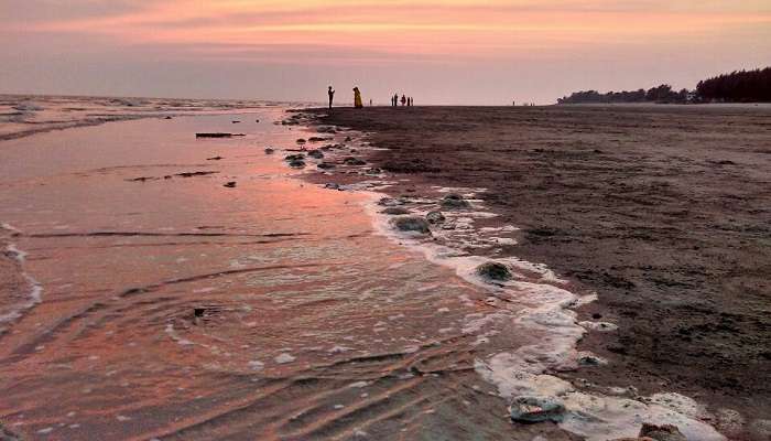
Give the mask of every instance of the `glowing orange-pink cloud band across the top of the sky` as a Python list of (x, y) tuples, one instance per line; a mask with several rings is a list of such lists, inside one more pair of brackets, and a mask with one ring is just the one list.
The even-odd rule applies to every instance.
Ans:
[[(15, 1), (15, 0), (14, 0)], [(35, 0), (41, 8), (50, 1)], [(545, 3), (545, 4), (544, 4)], [(719, 4), (718, 4), (719, 3)], [(752, 3), (752, 2), (750, 2)], [(727, 26), (771, 24), (771, 13), (747, 12), (728, 2), (659, 0), (625, 2), (296, 0), (127, 1), (106, 7), (78, 0), (64, 19), (11, 26), (112, 37), (124, 44), (357, 45), (362, 51), (404, 54), (517, 55), (523, 47), (555, 52), (580, 44), (667, 39), (714, 33)], [(706, 4), (707, 7), (699, 6)], [(760, 9), (761, 4), (758, 3)], [(89, 8), (90, 6), (90, 8)], [(719, 6), (719, 8), (718, 8)], [(29, 8), (26, 14), (30, 14)]]

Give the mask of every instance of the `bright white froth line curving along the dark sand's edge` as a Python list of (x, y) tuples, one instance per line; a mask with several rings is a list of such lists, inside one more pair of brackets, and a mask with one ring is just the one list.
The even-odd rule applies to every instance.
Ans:
[[(450, 190), (468, 191), (441, 189), (442, 192)], [(656, 399), (655, 396), (625, 398), (600, 392), (588, 394), (577, 390), (569, 381), (545, 374), (576, 366), (578, 358), (584, 355), (577, 352), (576, 346), (587, 330), (577, 323), (576, 313), (569, 308), (594, 301), (595, 294), (582, 297), (556, 287), (564, 281), (544, 265), (518, 258), (500, 258), (496, 261), (514, 270), (539, 273), (541, 282), (514, 280), (500, 286), (490, 284), (476, 273), (476, 268), (490, 259), (469, 256), (414, 234), (394, 232), (389, 225), (388, 216), (379, 213), (381, 207), (377, 204), (386, 195), (371, 191), (362, 193), (368, 196), (365, 211), (371, 217), (378, 234), (421, 251), (428, 261), (452, 268), (467, 282), (491, 292), (498, 299), (508, 298), (519, 306), (519, 310), (499, 308), (481, 316), (473, 314), (475, 316), (467, 318), (464, 326), (464, 332), (478, 335), (476, 344), (487, 343), (489, 336), (499, 333), (497, 329), (502, 330), (512, 324), (529, 330), (540, 342), (476, 361), (476, 372), (495, 385), (501, 397), (511, 399), (517, 396), (535, 396), (558, 400), (567, 409), (560, 427), (590, 441), (637, 437), (643, 422), (674, 424), (688, 440), (725, 440), (712, 426), (703, 422), (709, 419), (706, 411), (682, 395), (663, 394), (659, 398), (667, 399)], [(694, 412), (693, 409), (699, 411)]]

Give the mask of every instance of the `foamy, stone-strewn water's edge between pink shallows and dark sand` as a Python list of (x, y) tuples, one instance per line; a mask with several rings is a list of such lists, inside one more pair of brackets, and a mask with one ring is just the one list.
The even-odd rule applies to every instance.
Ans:
[[(302, 112), (291, 118), (290, 123), (292, 119), (295, 119), (294, 122), (302, 119)], [(339, 126), (315, 127), (324, 133), (336, 131), (338, 135), (335, 138), (339, 133), (351, 133)], [(602, 322), (578, 323), (576, 320), (574, 311), (593, 302), (596, 295), (568, 291), (576, 287), (544, 265), (501, 256), (500, 246), (515, 241), (497, 236), (510, 236), (518, 228), (502, 225), (497, 219), (498, 215), (488, 212), (484, 201), (477, 198), (477, 194), (486, 192), (486, 189), (413, 187), (411, 184), (414, 182), (389, 180), (393, 176), (382, 174), (379, 168), (372, 168), (372, 164), (361, 160), (367, 152), (380, 149), (363, 141), (367, 137), (362, 137), (362, 133), (355, 133), (352, 138), (346, 137), (344, 143), (315, 146), (316, 149), (308, 150), (326, 152), (322, 153), (322, 158), (311, 154), (307, 158), (322, 161), (316, 162), (317, 165), (337, 164), (333, 169), (335, 171), (327, 168), (322, 172), (308, 170), (302, 176), (329, 190), (365, 192), (370, 196), (365, 208), (377, 235), (421, 254), (431, 265), (452, 269), (466, 283), (487, 292), (486, 299), (477, 301), (488, 312), (468, 316), (464, 333), (477, 335), (474, 344), (479, 345), (476, 349), (476, 374), (495, 386), (497, 395), (506, 402), (535, 400), (543, 406), (557, 404), (563, 410), (553, 422), (564, 433), (585, 440), (636, 438), (642, 430), (641, 422), (673, 424), (693, 440), (724, 439), (706, 422), (709, 421), (708, 412), (688, 397), (669, 391), (645, 396), (632, 387), (608, 387), (586, 380), (572, 383), (571, 378), (562, 375), (607, 363), (591, 352), (577, 351), (577, 342), (589, 329), (612, 326)], [(319, 141), (322, 139), (317, 138), (316, 142)], [(349, 162), (350, 159), (358, 161)], [(398, 194), (393, 192), (394, 187), (406, 193)], [(459, 195), (467, 205), (459, 208), (446, 206), (444, 201), (450, 194)], [(428, 218), (427, 213), (436, 213), (432, 209), (441, 211), (444, 219), (432, 223), (434, 225), (430, 226), (427, 234), (400, 232), (397, 227), (399, 220)], [(490, 252), (468, 252), (467, 247)], [(496, 280), (482, 276), (479, 269), (487, 265), (506, 266), (512, 277)], [(470, 299), (466, 301), (470, 302)], [(512, 422), (515, 421), (513, 409), (514, 405), (511, 405)], [(520, 433), (530, 427), (514, 424), (517, 429), (512, 429), (512, 433)]]

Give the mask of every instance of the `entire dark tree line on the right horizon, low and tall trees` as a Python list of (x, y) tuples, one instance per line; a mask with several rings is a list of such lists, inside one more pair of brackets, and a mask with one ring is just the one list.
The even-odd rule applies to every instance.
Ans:
[(650, 89), (608, 92), (583, 90), (557, 99), (557, 104), (610, 103), (771, 103), (771, 67), (738, 71), (698, 82), (696, 90), (673, 90), (669, 84)]

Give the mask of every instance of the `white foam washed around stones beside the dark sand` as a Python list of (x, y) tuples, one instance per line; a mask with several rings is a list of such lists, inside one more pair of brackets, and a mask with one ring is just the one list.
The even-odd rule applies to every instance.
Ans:
[[(501, 239), (498, 237), (501, 233), (518, 229), (514, 226), (475, 227), (476, 218), (496, 216), (486, 212), (481, 202), (474, 198), (485, 189), (434, 189), (438, 193), (460, 193), (471, 201), (473, 206), (465, 211), (443, 211), (452, 217), (452, 227), (434, 225), (431, 234), (422, 235), (394, 230), (390, 223), (393, 216), (381, 213), (383, 205), (378, 202), (388, 196), (371, 189), (388, 184), (382, 181), (367, 182), (347, 189), (362, 191), (368, 195), (365, 209), (372, 218), (377, 234), (422, 252), (428, 261), (453, 269), (465, 281), (490, 294), (485, 303), (493, 308), (492, 312), (470, 314), (463, 332), (477, 335), (476, 344), (481, 348), (503, 332), (519, 332), (526, 342), (511, 351), (488, 352), (476, 361), (476, 372), (495, 385), (502, 398), (510, 401), (514, 397), (528, 396), (562, 402), (566, 412), (560, 427), (586, 437), (587, 440), (637, 437), (643, 422), (674, 424), (688, 440), (725, 440), (725, 437), (705, 422), (712, 420), (712, 416), (697, 402), (682, 395), (640, 397), (633, 387), (619, 392), (613, 388), (594, 385), (588, 388), (590, 391), (582, 391), (569, 381), (552, 375), (574, 369), (580, 358), (590, 356), (579, 353), (576, 347), (582, 336), (589, 332), (588, 329), (594, 331), (594, 327), (578, 323), (573, 309), (594, 301), (596, 295), (578, 295), (568, 291), (567, 282), (545, 265), (515, 257), (490, 259), (466, 251), (465, 249), (477, 246), (495, 246), (496, 243), (489, 239), (491, 235)], [(438, 201), (397, 201), (395, 205), (409, 208), (411, 215), (425, 216), (428, 211), (436, 209)], [(513, 240), (503, 239), (507, 243)], [(491, 283), (480, 277), (477, 267), (491, 260), (503, 263), (513, 271), (512, 280)], [(466, 301), (471, 302), (470, 299)], [(608, 327), (612, 327), (612, 324), (608, 324)], [(597, 359), (599, 364), (604, 362)]]

